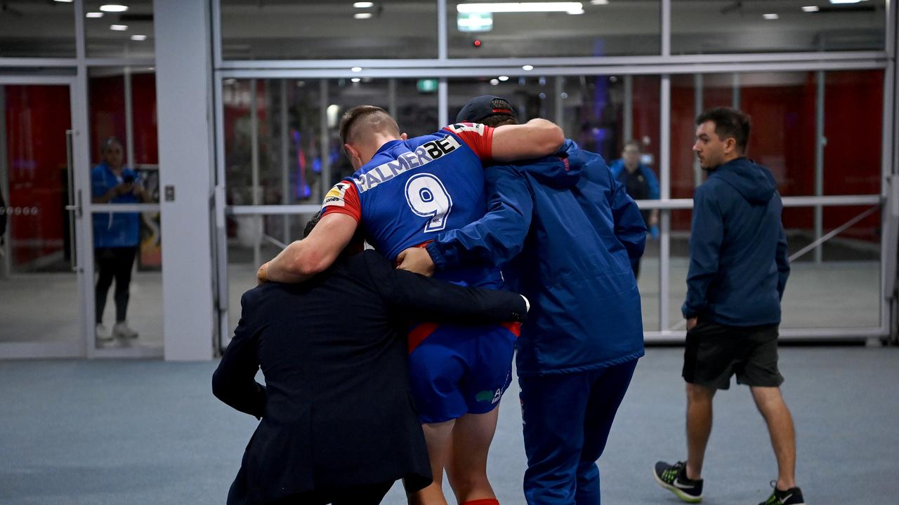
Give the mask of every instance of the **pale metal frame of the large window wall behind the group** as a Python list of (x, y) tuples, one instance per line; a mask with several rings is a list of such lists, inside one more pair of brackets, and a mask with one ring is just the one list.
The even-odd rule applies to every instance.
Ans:
[[(372, 78), (438, 78), (438, 111), (441, 122), (447, 121), (449, 86), (452, 77), (472, 77), (480, 75), (660, 75), (660, 185), (662, 199), (641, 201), (642, 208), (658, 208), (661, 214), (661, 249), (659, 276), (659, 321), (658, 330), (645, 331), (647, 341), (682, 341), (683, 331), (664, 330), (668, 320), (668, 274), (670, 267), (671, 211), (692, 208), (692, 199), (671, 199), (671, 76), (684, 74), (733, 73), (739, 79), (742, 73), (828, 71), (828, 70), (885, 70), (884, 120), (882, 170), (884, 181), (880, 194), (839, 195), (839, 196), (799, 196), (785, 197), (785, 207), (835, 207), (847, 205), (877, 205), (885, 201), (887, 195), (886, 178), (899, 173), (896, 167), (896, 150), (899, 143), (894, 138), (895, 121), (899, 117), (899, 106), (895, 101), (895, 32), (896, 2), (886, 0), (886, 45), (883, 50), (833, 51), (833, 52), (786, 52), (752, 54), (707, 54), (672, 55), (672, 0), (660, 0), (660, 54), (636, 57), (601, 58), (448, 58), (446, 29), (446, 0), (435, 0), (438, 6), (438, 58), (413, 59), (354, 59), (354, 60), (224, 60), (221, 51), (221, 11), (219, 0), (213, 4), (213, 55), (214, 79), (218, 94), (216, 97), (218, 183), (224, 188), (224, 146), (221, 133), (224, 131), (223, 104), (221, 102), (221, 82), (226, 78), (242, 79), (337, 79), (348, 77)], [(521, 66), (532, 65), (534, 69), (524, 71)], [(354, 73), (352, 66), (361, 66), (362, 71)], [(734, 81), (736, 82), (736, 81)], [(734, 100), (736, 100), (736, 95)], [(884, 206), (887, 207), (886, 205)], [(221, 216), (234, 215), (289, 215), (316, 212), (316, 205), (285, 206), (227, 206)], [(884, 212), (883, 223), (887, 224), (888, 213)], [(895, 244), (881, 241), (881, 292), (886, 286), (886, 257), (895, 251)], [(227, 286), (227, 258), (224, 273), (220, 279)], [(886, 294), (885, 294), (886, 295)], [(227, 307), (226, 307), (227, 309)], [(781, 335), (792, 339), (845, 339), (881, 338), (889, 333), (888, 306), (886, 298), (881, 302), (881, 323), (877, 327), (858, 328), (786, 328)], [(227, 317), (227, 316), (224, 316)], [(223, 318), (227, 321), (227, 318)], [(225, 335), (223, 335), (223, 341)]]

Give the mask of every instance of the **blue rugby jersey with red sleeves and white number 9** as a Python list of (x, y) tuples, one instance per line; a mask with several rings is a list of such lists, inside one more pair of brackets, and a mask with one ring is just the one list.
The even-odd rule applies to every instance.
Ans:
[[(391, 140), (328, 191), (322, 212), (355, 218), (366, 241), (395, 261), (407, 247), (484, 216), (482, 160), (491, 158), (493, 131), (459, 123), (431, 135)], [(435, 277), (473, 286), (503, 285), (500, 271), (489, 266), (441, 271)]]

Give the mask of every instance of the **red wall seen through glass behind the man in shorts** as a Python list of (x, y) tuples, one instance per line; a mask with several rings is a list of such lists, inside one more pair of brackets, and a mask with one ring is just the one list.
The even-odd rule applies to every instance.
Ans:
[[(765, 165), (783, 196), (814, 194), (814, 126), (816, 75), (787, 85), (743, 85), (741, 108), (752, 118), (749, 157)], [(880, 192), (883, 72), (829, 72), (824, 97), (825, 195)], [(636, 91), (636, 89), (635, 89)], [(732, 88), (703, 90), (706, 108), (729, 106)], [(638, 97), (635, 94), (635, 103)], [(672, 78), (672, 198), (692, 198), (694, 88), (691, 76)], [(850, 220), (861, 208), (828, 208), (824, 228)], [(811, 208), (784, 209), (784, 226), (810, 228)], [(672, 218), (672, 228), (690, 228), (686, 213)], [(871, 216), (842, 236), (878, 240), (879, 217)]]

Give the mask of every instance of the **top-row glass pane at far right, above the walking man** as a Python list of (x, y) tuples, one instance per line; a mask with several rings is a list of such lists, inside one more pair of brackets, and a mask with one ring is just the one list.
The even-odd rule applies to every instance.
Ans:
[(883, 50), (885, 0), (672, 0), (672, 54)]

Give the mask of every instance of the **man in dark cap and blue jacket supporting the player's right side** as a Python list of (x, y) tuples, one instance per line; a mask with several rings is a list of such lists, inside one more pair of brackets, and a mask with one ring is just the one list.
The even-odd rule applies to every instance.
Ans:
[[(505, 102), (476, 97), (457, 121), (516, 123), (514, 111), (494, 109), (497, 99)], [(486, 262), (531, 300), (516, 355), (525, 498), (597, 505), (596, 460), (644, 353), (630, 266), (643, 253), (643, 217), (602, 157), (571, 140), (560, 155), (494, 165), (485, 180), (485, 217), (405, 250), (400, 268), (432, 273)]]

